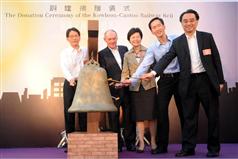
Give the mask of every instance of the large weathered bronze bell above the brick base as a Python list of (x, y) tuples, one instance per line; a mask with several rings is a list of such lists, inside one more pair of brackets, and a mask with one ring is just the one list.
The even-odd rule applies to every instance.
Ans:
[(112, 112), (113, 103), (105, 69), (91, 59), (79, 73), (77, 88), (68, 112)]

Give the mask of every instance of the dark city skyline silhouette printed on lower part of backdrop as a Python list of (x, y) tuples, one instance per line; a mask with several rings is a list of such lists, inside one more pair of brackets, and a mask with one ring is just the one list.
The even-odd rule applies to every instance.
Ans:
[[(63, 77), (51, 79), (48, 90), (41, 95), (28, 94), (25, 88), (18, 92), (3, 92), (0, 99), (0, 147), (56, 146), (60, 132), (64, 130)], [(21, 99), (20, 99), (21, 97)], [(238, 142), (238, 128), (232, 126), (238, 121), (238, 82), (236, 87), (225, 89), (220, 96), (221, 141)], [(180, 125), (174, 99), (170, 102), (170, 143), (180, 142)], [(199, 113), (198, 141), (206, 141), (207, 119), (203, 109)], [(229, 131), (227, 131), (229, 130)]]

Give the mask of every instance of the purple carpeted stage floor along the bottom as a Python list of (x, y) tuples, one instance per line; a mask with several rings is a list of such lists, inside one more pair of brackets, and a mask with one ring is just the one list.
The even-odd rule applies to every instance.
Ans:
[[(119, 158), (174, 158), (174, 154), (180, 150), (180, 145), (170, 144), (168, 153), (152, 155), (150, 147), (146, 147), (144, 153), (128, 152), (123, 150)], [(4, 158), (67, 158), (65, 149), (54, 147), (45, 148), (0, 148), (0, 159)], [(192, 158), (205, 158), (207, 153), (205, 144), (198, 144), (196, 154)], [(191, 158), (191, 157), (190, 157)], [(219, 158), (238, 158), (238, 144), (222, 144)]]

